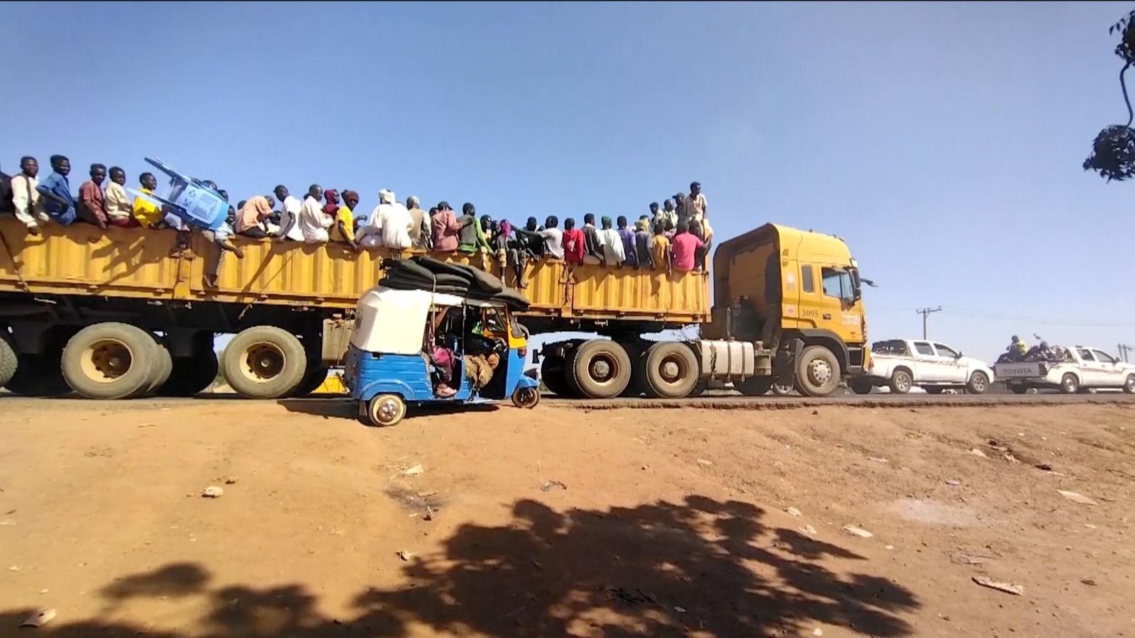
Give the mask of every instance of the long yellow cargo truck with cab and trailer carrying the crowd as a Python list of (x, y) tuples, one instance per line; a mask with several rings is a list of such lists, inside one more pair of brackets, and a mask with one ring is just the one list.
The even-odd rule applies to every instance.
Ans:
[[(245, 258), (218, 261), (201, 237), (177, 251), (171, 232), (75, 224), (30, 236), (11, 219), (0, 220), (0, 385), (96, 398), (195, 394), (218, 367), (245, 396), (310, 393), (340, 362), (381, 260), (397, 257), (237, 238)], [(823, 395), (861, 371), (866, 324), (842, 241), (766, 225), (721, 244), (711, 272), (712, 309), (705, 274), (530, 265), (526, 327), (598, 335), (546, 343), (545, 384), (583, 397), (678, 397), (709, 379), (746, 394), (780, 379)], [(642, 338), (689, 326), (712, 338)], [(217, 334), (235, 335), (220, 361)]]

